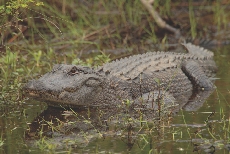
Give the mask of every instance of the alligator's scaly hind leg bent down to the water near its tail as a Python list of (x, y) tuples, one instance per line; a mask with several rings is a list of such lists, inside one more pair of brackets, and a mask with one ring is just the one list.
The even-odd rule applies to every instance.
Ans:
[(201, 90), (211, 90), (215, 87), (198, 63), (192, 60), (184, 61), (182, 62), (181, 68), (189, 80), (192, 81), (193, 85), (195, 85), (195, 88), (199, 88)]

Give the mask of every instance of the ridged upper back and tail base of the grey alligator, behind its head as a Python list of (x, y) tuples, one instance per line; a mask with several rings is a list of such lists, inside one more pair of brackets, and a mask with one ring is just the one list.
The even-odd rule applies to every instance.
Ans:
[(181, 68), (182, 61), (192, 60), (203, 68), (207, 76), (216, 71), (212, 52), (190, 43), (183, 45), (188, 53), (147, 52), (107, 63), (100, 69), (119, 78), (132, 80), (142, 73), (152, 74), (166, 69)]

